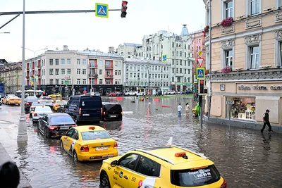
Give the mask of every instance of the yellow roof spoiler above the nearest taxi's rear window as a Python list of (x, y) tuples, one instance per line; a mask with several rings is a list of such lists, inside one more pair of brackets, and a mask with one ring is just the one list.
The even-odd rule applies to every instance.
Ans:
[(197, 161), (189, 161), (188, 158), (187, 162), (185, 163), (177, 163), (175, 165), (171, 165), (171, 170), (186, 170), (191, 168), (201, 168), (209, 165), (214, 165), (214, 163), (209, 159), (203, 158)]

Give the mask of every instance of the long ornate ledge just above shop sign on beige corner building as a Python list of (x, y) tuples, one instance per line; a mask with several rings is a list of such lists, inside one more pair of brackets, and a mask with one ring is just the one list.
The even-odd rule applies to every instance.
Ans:
[(282, 79), (282, 68), (272, 68), (267, 70), (243, 70), (231, 73), (209, 73), (212, 80), (264, 80)]

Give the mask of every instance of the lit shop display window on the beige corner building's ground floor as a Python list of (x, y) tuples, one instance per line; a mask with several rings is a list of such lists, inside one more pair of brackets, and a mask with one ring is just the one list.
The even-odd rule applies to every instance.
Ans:
[(227, 97), (226, 101), (234, 101), (227, 105), (226, 118), (255, 120), (255, 97)]

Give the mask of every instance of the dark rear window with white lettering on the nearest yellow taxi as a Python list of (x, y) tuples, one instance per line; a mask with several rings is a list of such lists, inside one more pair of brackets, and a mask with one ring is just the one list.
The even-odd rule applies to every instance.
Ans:
[(220, 180), (219, 171), (214, 165), (197, 169), (171, 170), (171, 184), (180, 187), (197, 187)]

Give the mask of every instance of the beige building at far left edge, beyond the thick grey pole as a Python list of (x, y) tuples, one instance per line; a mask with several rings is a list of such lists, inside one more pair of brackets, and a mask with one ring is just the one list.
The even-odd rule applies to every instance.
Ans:
[(0, 70), (1, 80), (4, 80), (5, 92), (14, 94), (21, 90), (22, 65), (21, 63), (7, 63)]

